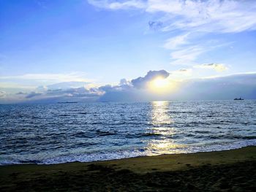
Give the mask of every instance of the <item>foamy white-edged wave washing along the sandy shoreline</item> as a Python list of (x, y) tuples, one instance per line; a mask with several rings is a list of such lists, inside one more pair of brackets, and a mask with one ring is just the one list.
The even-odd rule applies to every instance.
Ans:
[[(2, 155), (0, 159), (0, 165), (7, 164), (64, 164), (69, 162), (90, 162), (90, 161), (107, 161), (121, 158), (132, 158), (138, 156), (151, 156), (151, 155), (163, 155), (163, 154), (178, 154), (178, 153), (197, 153), (197, 152), (210, 152), (231, 150), (246, 146), (256, 145), (256, 139), (248, 141), (238, 141), (232, 143), (222, 144), (209, 144), (209, 145), (197, 145), (197, 146), (181, 146), (169, 150), (153, 150), (150, 148), (138, 148), (135, 150), (116, 150), (110, 152), (99, 153), (82, 153), (82, 154), (69, 154), (59, 155), (53, 158), (35, 159), (33, 157), (18, 159), (17, 156), (10, 157), (10, 155)], [(20, 155), (19, 155), (20, 156)]]

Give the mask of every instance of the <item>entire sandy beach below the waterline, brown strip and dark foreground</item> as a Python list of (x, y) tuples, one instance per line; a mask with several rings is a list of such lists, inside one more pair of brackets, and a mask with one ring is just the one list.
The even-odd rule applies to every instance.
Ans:
[(256, 191), (256, 147), (0, 166), (0, 191)]

